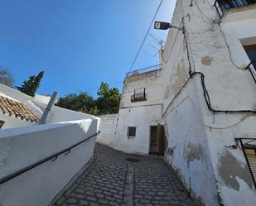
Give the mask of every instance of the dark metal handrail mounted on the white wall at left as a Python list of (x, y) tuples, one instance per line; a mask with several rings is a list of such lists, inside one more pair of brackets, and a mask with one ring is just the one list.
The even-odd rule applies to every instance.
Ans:
[(45, 163), (45, 162), (48, 161), (48, 160), (55, 161), (55, 160), (58, 158), (58, 156), (60, 156), (61, 154), (64, 154), (64, 153), (65, 153), (65, 155), (69, 154), (70, 151), (71, 151), (74, 147), (79, 146), (80, 144), (84, 143), (85, 141), (88, 141), (89, 139), (91, 139), (92, 137), (98, 136), (99, 133), (100, 133), (100, 131), (97, 132), (97, 133), (95, 133), (94, 135), (92, 135), (92, 136), (86, 138), (85, 140), (79, 141), (79, 142), (76, 143), (75, 145), (66, 148), (65, 150), (56, 152), (54, 155), (48, 156), (48, 157), (46, 157), (46, 158), (43, 159), (43, 160), (39, 160), (39, 161), (37, 161), (36, 163), (34, 163), (34, 164), (32, 164), (32, 165), (29, 165), (29, 166), (23, 168), (22, 170), (18, 170), (17, 172), (12, 173), (11, 175), (7, 175), (6, 177), (3, 177), (3, 178), (0, 180), (0, 184), (6, 183), (7, 181), (12, 180), (12, 179), (14, 179), (15, 177), (17, 177), (17, 176), (19, 176), (19, 175), (22, 175), (23, 173), (25, 173), (25, 172), (27, 172), (27, 171), (29, 171), (29, 170), (32, 170), (32, 169), (35, 168), (36, 166), (41, 165), (41, 164)]

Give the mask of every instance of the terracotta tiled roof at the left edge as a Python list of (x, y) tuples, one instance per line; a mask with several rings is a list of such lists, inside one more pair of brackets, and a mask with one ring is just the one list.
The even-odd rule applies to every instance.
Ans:
[(0, 112), (20, 117), (31, 122), (38, 122), (38, 119), (28, 110), (23, 103), (18, 103), (11, 98), (0, 96)]

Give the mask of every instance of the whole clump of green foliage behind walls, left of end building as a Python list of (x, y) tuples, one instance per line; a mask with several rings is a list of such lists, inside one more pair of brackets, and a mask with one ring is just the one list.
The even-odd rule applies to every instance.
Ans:
[(118, 113), (121, 95), (117, 88), (110, 89), (109, 84), (102, 82), (97, 94), (98, 98), (94, 99), (88, 93), (70, 93), (60, 98), (56, 106), (95, 116)]

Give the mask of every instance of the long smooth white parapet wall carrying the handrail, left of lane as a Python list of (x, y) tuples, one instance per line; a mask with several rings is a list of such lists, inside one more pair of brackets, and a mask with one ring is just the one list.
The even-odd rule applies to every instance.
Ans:
[[(97, 132), (94, 121), (0, 131), (0, 179), (62, 151)], [(46, 206), (93, 155), (95, 137), (0, 185), (2, 206)]]

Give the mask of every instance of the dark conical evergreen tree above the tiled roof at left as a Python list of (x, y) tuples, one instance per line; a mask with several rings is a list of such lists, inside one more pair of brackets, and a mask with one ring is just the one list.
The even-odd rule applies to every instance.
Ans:
[(41, 79), (44, 76), (44, 71), (37, 75), (31, 75), (28, 80), (23, 81), (21, 87), (16, 87), (22, 93), (26, 93), (31, 97), (35, 96), (36, 90), (40, 87)]

